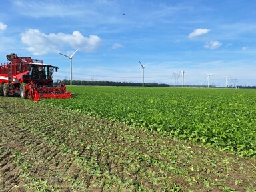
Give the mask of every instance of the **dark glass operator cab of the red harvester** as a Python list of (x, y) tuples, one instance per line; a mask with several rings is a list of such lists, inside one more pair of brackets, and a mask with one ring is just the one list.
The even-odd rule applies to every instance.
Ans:
[(23, 79), (31, 79), (32, 81), (51, 81), (53, 73), (58, 71), (58, 67), (51, 65), (31, 64), (28, 75), (23, 75)]

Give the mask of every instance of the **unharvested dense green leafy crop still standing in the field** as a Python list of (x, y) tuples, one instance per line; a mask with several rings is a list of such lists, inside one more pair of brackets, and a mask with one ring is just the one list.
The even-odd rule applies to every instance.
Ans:
[(245, 89), (69, 87), (69, 100), (44, 100), (73, 111), (256, 155), (256, 91)]

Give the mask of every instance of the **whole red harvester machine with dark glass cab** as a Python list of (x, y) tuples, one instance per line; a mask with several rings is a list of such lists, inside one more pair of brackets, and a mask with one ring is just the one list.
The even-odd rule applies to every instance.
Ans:
[(58, 67), (43, 64), (42, 60), (31, 57), (6, 55), (10, 63), (0, 65), (0, 95), (20, 95), (21, 99), (71, 98), (63, 83), (53, 83), (53, 72)]

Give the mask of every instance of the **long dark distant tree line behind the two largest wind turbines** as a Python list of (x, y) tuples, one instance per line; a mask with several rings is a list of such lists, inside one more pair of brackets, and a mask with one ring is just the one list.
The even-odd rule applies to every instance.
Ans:
[[(57, 80), (61, 81), (61, 80)], [(70, 85), (70, 80), (62, 81), (65, 85)], [(113, 81), (85, 81), (85, 80), (72, 80), (72, 85), (100, 85), (100, 86), (129, 86), (129, 87), (141, 87), (142, 83), (131, 82), (113, 82)], [(144, 83), (145, 87), (169, 87), (170, 85), (165, 83)]]

